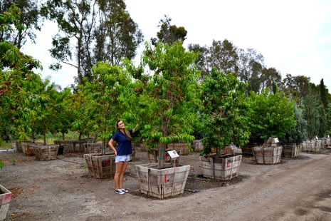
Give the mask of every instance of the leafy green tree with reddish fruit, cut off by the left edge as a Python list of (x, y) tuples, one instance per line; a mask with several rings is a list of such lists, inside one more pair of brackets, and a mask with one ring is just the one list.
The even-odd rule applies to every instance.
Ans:
[[(0, 29), (8, 31), (7, 34), (14, 29), (23, 31), (20, 21), (21, 11), (13, 4), (8, 12), (0, 14)], [(9, 41), (0, 41), (0, 61), (0, 135), (1, 139), (15, 140), (13, 148), (21, 153), (21, 141), (28, 138), (31, 130), (28, 122), (36, 114), (31, 108), (31, 101), (36, 96), (25, 86), (40, 78), (28, 67), (41, 68), (41, 63), (21, 53)]]

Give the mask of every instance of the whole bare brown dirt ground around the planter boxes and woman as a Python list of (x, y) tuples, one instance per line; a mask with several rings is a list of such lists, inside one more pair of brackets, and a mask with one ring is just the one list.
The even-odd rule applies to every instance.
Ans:
[(57, 160), (1, 152), (0, 184), (14, 193), (7, 220), (331, 220), (331, 150), (258, 165), (245, 155), (238, 178), (202, 177), (199, 153), (180, 157), (191, 165), (183, 195), (162, 200), (142, 195), (135, 165), (148, 163), (137, 150), (125, 173), (125, 195), (109, 179), (88, 177), (83, 154)]

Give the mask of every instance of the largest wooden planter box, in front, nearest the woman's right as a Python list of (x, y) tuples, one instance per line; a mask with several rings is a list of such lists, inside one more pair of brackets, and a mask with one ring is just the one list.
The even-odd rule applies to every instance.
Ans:
[(184, 192), (190, 165), (166, 165), (158, 168), (157, 163), (136, 165), (140, 192), (163, 199)]

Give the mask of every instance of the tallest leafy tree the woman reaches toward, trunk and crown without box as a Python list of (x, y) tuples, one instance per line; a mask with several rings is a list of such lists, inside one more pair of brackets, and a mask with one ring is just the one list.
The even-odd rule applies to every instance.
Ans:
[[(169, 46), (145, 44), (140, 68), (149, 76), (141, 96), (149, 120), (142, 135), (149, 148), (159, 148), (159, 165), (164, 165), (168, 143), (194, 140), (194, 123), (200, 106), (199, 71), (194, 66), (196, 53), (186, 51), (182, 43)], [(137, 111), (140, 111), (138, 108)]]

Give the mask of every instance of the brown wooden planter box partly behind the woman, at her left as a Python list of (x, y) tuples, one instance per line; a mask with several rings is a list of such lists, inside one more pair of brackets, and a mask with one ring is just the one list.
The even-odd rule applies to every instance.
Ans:
[(88, 175), (93, 178), (114, 178), (116, 171), (115, 154), (87, 153), (84, 154), (88, 166)]

